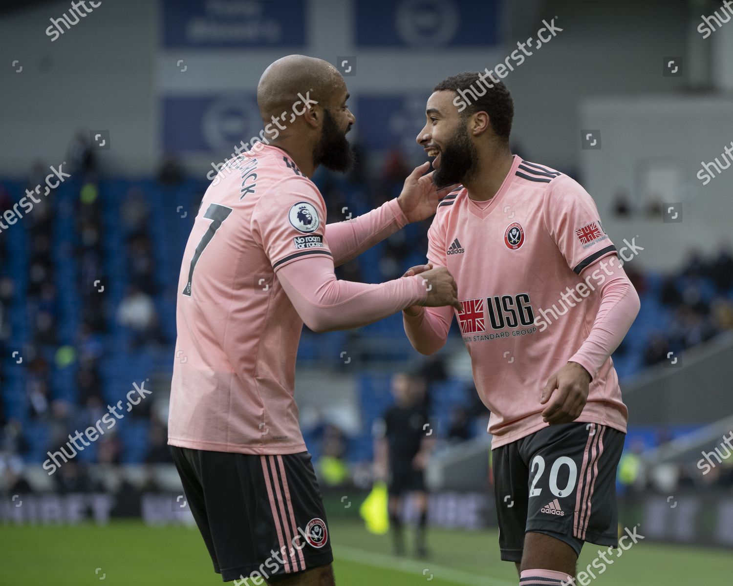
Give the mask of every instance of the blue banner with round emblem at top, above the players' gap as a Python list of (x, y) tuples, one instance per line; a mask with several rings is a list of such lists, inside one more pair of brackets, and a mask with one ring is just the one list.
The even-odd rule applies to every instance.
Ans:
[(355, 0), (356, 46), (490, 47), (499, 42), (499, 0)]

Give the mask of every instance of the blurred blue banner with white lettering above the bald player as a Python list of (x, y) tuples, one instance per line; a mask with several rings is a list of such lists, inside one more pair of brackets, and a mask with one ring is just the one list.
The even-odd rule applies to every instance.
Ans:
[(161, 0), (166, 48), (306, 45), (306, 0)]

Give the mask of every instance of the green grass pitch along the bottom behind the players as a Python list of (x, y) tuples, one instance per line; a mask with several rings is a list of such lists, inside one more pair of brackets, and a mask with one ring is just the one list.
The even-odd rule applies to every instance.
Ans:
[[(348, 586), (516, 586), (514, 565), (498, 559), (496, 531), (431, 530), (429, 560), (393, 557), (388, 537), (334, 520), (336, 584)], [(26, 586), (205, 586), (214, 574), (196, 527), (0, 526), (0, 584)], [(586, 545), (578, 569), (594, 560)], [(730, 586), (733, 553), (640, 541), (591, 581), (597, 586)], [(97, 570), (97, 568), (100, 568)], [(596, 571), (597, 573), (597, 571)], [(231, 584), (232, 582), (229, 582)]]

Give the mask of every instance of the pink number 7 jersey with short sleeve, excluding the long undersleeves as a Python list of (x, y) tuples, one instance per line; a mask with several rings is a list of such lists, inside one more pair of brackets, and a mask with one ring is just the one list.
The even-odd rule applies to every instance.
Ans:
[(223, 176), (207, 189), (183, 255), (169, 444), (301, 452), (293, 393), (303, 321), (275, 274), (331, 256), (325, 204), (271, 145), (232, 160)]

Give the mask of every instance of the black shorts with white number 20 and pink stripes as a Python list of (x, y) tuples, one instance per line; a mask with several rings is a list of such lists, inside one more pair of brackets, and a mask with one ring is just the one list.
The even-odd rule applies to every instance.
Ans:
[(573, 422), (493, 450), (502, 560), (522, 560), (530, 531), (558, 538), (578, 554), (585, 541), (618, 547), (616, 467), (625, 435)]

